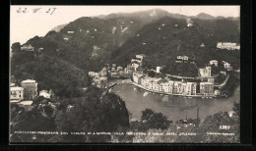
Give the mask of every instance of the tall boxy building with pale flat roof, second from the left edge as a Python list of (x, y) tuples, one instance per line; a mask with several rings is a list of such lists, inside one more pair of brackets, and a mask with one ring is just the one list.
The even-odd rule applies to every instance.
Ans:
[(22, 87), (24, 88), (24, 98), (32, 100), (37, 96), (37, 82), (32, 79), (26, 79), (22, 81)]

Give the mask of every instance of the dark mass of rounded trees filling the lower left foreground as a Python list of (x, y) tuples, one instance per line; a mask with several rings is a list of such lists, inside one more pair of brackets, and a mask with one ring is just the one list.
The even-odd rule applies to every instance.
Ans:
[[(52, 107), (49, 102), (56, 103)], [(61, 102), (60, 104), (58, 104)], [(12, 105), (12, 137), (14, 142), (105, 142), (109, 136), (73, 135), (70, 132), (117, 131), (129, 127), (124, 101), (113, 93), (101, 93), (91, 87), (80, 98), (33, 100), (32, 111), (26, 112)], [(44, 113), (47, 117), (44, 116)], [(17, 134), (14, 131), (62, 131), (68, 135)]]

